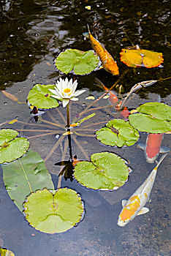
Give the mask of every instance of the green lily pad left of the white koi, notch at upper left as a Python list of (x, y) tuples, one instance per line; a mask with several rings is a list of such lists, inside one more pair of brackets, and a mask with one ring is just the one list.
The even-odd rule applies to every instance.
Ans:
[(92, 154), (91, 162), (78, 162), (74, 176), (87, 188), (113, 190), (125, 184), (129, 176), (129, 168), (116, 154), (102, 152)]

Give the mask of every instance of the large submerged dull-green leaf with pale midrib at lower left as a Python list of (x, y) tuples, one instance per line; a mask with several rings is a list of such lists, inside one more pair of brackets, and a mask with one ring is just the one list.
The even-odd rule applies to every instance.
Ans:
[(32, 150), (21, 159), (2, 165), (4, 184), (9, 197), (23, 211), (23, 202), (37, 189), (54, 189), (45, 162)]

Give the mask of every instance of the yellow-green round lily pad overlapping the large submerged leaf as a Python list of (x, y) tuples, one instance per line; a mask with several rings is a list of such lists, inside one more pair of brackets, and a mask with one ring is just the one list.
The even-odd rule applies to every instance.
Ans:
[(61, 233), (75, 226), (83, 216), (81, 197), (72, 189), (51, 193), (38, 190), (24, 204), (26, 219), (32, 227), (44, 233)]

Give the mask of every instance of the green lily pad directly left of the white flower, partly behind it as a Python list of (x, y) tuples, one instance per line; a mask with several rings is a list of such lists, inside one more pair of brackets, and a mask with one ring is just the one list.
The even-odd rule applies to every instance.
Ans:
[(55, 85), (47, 84), (36, 84), (28, 92), (28, 102), (37, 108), (56, 108), (58, 107), (58, 100), (51, 97), (53, 95), (49, 89), (54, 89)]

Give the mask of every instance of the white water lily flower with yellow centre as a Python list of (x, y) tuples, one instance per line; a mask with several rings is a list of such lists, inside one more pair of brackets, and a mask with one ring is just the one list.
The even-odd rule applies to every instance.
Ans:
[(66, 78), (65, 80), (62, 78), (59, 78), (59, 81), (56, 83), (55, 90), (49, 89), (54, 95), (51, 95), (51, 97), (56, 99), (62, 99), (63, 107), (65, 108), (66, 105), (69, 103), (69, 99), (71, 100), (78, 100), (76, 98), (78, 95), (83, 94), (86, 90), (79, 90), (75, 91), (77, 88), (77, 80), (72, 83), (72, 79), (68, 80)]

